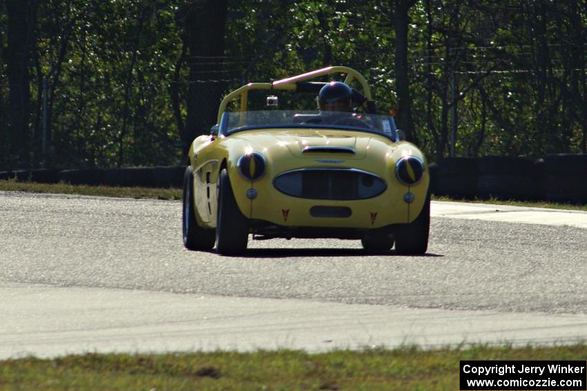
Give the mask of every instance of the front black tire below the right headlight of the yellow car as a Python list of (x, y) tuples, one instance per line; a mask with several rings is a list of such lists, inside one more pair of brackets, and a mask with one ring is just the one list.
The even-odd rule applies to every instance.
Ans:
[(416, 220), (405, 224), (396, 232), (396, 252), (402, 255), (425, 254), (430, 232), (430, 195)]

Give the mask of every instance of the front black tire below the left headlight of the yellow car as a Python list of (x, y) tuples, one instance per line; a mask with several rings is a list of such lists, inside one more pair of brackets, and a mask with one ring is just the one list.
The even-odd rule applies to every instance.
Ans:
[(247, 248), (249, 220), (244, 217), (236, 204), (226, 168), (218, 177), (217, 209), (216, 251), (224, 255), (240, 254)]

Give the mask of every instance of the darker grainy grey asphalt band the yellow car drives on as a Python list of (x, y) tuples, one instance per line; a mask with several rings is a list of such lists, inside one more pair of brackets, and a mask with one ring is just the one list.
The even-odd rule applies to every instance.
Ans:
[[(11, 287), (30, 287), (35, 300), (35, 289), (50, 285), (77, 292), (73, 301), (104, 292), (90, 288), (115, 288), (193, 298), (302, 299), (325, 308), (346, 303), (499, 312), (526, 322), (542, 314), (587, 324), (586, 229), (483, 221), (464, 212), (463, 218), (434, 217), (440, 206), (432, 207), (423, 257), (393, 251), (367, 256), (358, 241), (300, 239), (250, 241), (244, 257), (220, 257), (184, 250), (177, 201), (0, 192), (0, 300), (23, 298), (11, 297)], [(587, 214), (575, 216), (578, 226), (583, 216), (587, 221)], [(46, 297), (68, 301), (67, 295)], [(30, 321), (39, 321), (34, 315)], [(1, 328), (18, 337), (22, 325)], [(26, 342), (21, 346), (26, 350)]]

